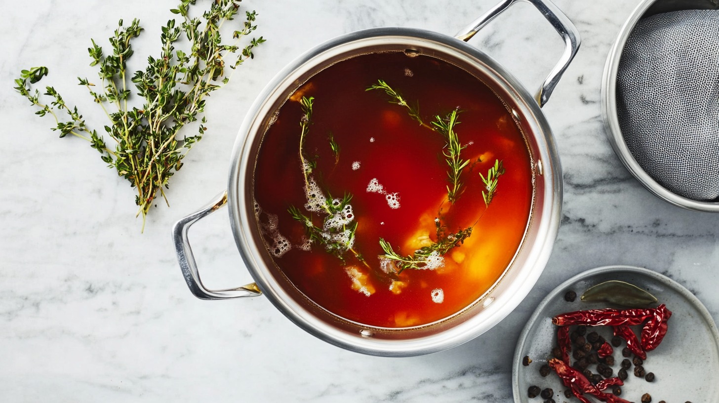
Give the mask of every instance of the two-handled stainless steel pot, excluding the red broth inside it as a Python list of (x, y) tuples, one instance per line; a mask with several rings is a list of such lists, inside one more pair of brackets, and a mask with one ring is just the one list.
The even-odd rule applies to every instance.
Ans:
[[(353, 32), (325, 42), (290, 63), (265, 88), (249, 110), (239, 130), (232, 156), (228, 190), (173, 228), (178, 261), (188, 286), (201, 299), (227, 299), (265, 294), (286, 317), (312, 335), (348, 350), (377, 356), (418, 356), (451, 348), (477, 337), (509, 314), (539, 279), (549, 259), (559, 228), (562, 206), (562, 170), (549, 124), (541, 105), (549, 99), (559, 77), (580, 45), (577, 29), (549, 0), (531, 4), (551, 22), (564, 39), (561, 60), (544, 81), (534, 99), (521, 84), (492, 58), (463, 42), (487, 22), (519, 0), (505, 0), (472, 22), (456, 37), (425, 30), (378, 28)], [(534, 196), (530, 222), (523, 243), (510, 267), (490, 291), (459, 314), (430, 325), (388, 329), (350, 322), (314, 304), (278, 271), (260, 236), (252, 203), (253, 168), (257, 150), (275, 111), (313, 74), (353, 55), (378, 51), (403, 51), (432, 55), (474, 74), (512, 111), (531, 153)], [(211, 291), (200, 280), (188, 243), (188, 228), (224, 204), (229, 204), (237, 248), (255, 280), (234, 289)]]

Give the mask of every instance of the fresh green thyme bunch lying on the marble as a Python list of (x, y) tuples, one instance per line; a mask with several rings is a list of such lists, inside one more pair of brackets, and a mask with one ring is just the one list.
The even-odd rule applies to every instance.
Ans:
[[(114, 140), (114, 147), (106, 145), (104, 137), (86, 125), (77, 107), (65, 104), (53, 87), (47, 86), (43, 94), (50, 98), (49, 104), (41, 100), (40, 91), (32, 90), (30, 84), (46, 76), (47, 68), (24, 70), (21, 78), (15, 80), (15, 89), (40, 108), (36, 114), (50, 114), (55, 118), (57, 126), (52, 130), (59, 131), (60, 137), (70, 134), (88, 140), (91, 147), (101, 153), (102, 160), (137, 189), (135, 203), (139, 206), (137, 215), (142, 214), (143, 230), (157, 192), (168, 203), (163, 188), (168, 187), (170, 176), (182, 167), (182, 159), (207, 130), (206, 118), (202, 115), (205, 96), (224, 86), (239, 65), (254, 58), (254, 48), (265, 42), (259, 37), (244, 42), (244, 47), (239, 45), (257, 28), (254, 11), (245, 12), (244, 22), (232, 34), (234, 41), (223, 42), (221, 27), (239, 14), (240, 1), (214, 0), (201, 17), (191, 17), (190, 9), (196, 0), (181, 0), (178, 8), (170, 12), (183, 19), (179, 24), (170, 19), (162, 27), (160, 56), (148, 58), (145, 71), (135, 71), (132, 78), (127, 71), (127, 60), (133, 53), (132, 40), (142, 32), (137, 19), (128, 27), (123, 26), (122, 19), (119, 21), (119, 27), (109, 38), (111, 54), (105, 54), (92, 40), (88, 53), (91, 65), (99, 67), (101, 81), (95, 84), (87, 78), (78, 77), (78, 80), (109, 119), (104, 130)], [(180, 37), (186, 37), (187, 42)], [(180, 45), (186, 50), (175, 48)], [(143, 98), (142, 107), (128, 104), (132, 84), (137, 95)], [(68, 121), (58, 116), (63, 114), (68, 115)], [(198, 120), (196, 135), (179, 135), (183, 127)]]

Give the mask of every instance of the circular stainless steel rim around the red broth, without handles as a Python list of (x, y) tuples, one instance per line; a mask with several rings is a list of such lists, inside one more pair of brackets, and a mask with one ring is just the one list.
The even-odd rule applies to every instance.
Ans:
[[(478, 76), (476, 73), (480, 73), (482, 81), (485, 81), (483, 79), (485, 76), (492, 79), (493, 83), (487, 83), (487, 81), (485, 83), (494, 91), (496, 91), (495, 85), (500, 86), (503, 89), (503, 95), (507, 95), (511, 99), (505, 99), (503, 96), (500, 98), (505, 104), (513, 105), (513, 114), (516, 118), (533, 129), (523, 130), (523, 132), (525, 137), (531, 137), (533, 142), (536, 142), (537, 155), (532, 155), (532, 162), (537, 164), (535, 168), (539, 174), (535, 174), (534, 181), (538, 181), (537, 177), (539, 176), (543, 184), (543, 186), (535, 186), (535, 201), (540, 199), (541, 202), (533, 207), (531, 214), (534, 217), (530, 218), (533, 227), (531, 230), (528, 227), (525, 233), (525, 237), (527, 237), (527, 233), (531, 231), (536, 235), (536, 240), (533, 242), (524, 240), (520, 246), (516, 255), (517, 258), (521, 254), (518, 266), (509, 266), (515, 270), (513, 280), (502, 281), (501, 279), (505, 275), (500, 278), (494, 288), (500, 289), (501, 292), (485, 299), (481, 315), (473, 314), (459, 322), (458, 325), (452, 325), (452, 327), (431, 335), (404, 340), (372, 338), (371, 333), (364, 332), (364, 330), (348, 332), (334, 327), (318, 319), (283, 289), (283, 286), (264, 267), (265, 262), (262, 256), (267, 254), (265, 245), (261, 240), (259, 245), (254, 241), (256, 237), (253, 235), (253, 228), (257, 225), (252, 209), (252, 197), (248, 195), (251, 192), (252, 184), (248, 184), (248, 181), (245, 180), (248, 177), (248, 171), (254, 170), (254, 166), (249, 166), (249, 163), (254, 162), (254, 153), (257, 150), (256, 138), (264, 134), (264, 130), (259, 132), (258, 129), (263, 127), (262, 121), (267, 119), (270, 112), (273, 111), (273, 102), (277, 101), (278, 96), (287, 94), (288, 91), (291, 93), (299, 86), (299, 83), (293, 80), (300, 76), (302, 71), (306, 72), (324, 60), (329, 60), (331, 55), (346, 51), (347, 48), (353, 50), (354, 55), (359, 55), (361, 52), (357, 49), (367, 49), (376, 42), (393, 42), (408, 48), (421, 44), (432, 50), (444, 51), (446, 55), (452, 54), (452, 56), (471, 61), (477, 69), (474, 72), (475, 76)], [(472, 72), (470, 71), (470, 73)], [(292, 86), (294, 89), (290, 91)], [(529, 139), (526, 138), (526, 140)], [(540, 188), (541, 191), (538, 190)], [(562, 175), (554, 138), (539, 105), (516, 78), (492, 58), (462, 40), (436, 32), (412, 28), (372, 28), (351, 32), (314, 47), (283, 68), (267, 84), (247, 112), (234, 145), (229, 172), (228, 204), (232, 232), (245, 265), (257, 286), (288, 319), (321, 340), (348, 350), (377, 356), (416, 356), (434, 353), (472, 340), (500, 322), (529, 293), (541, 272), (544, 271), (559, 229), (562, 207)], [(507, 271), (505, 271), (506, 273)]]

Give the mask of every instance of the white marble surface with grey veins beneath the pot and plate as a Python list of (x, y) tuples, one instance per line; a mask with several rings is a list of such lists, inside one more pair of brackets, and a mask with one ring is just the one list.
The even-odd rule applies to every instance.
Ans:
[[(172, 207), (153, 209), (141, 234), (133, 189), (82, 140), (50, 132), (50, 119), (35, 117), (12, 91), (12, 79), (21, 68), (47, 65), (43, 83), (104, 124), (74, 82), (95, 73), (89, 38), (104, 40), (121, 17), (141, 17), (146, 45), (137, 54), (155, 53), (175, 1), (2, 1), (0, 401), (510, 402), (511, 359), (533, 307), (574, 274), (614, 263), (667, 274), (718, 320), (719, 214), (656, 199), (621, 166), (605, 136), (605, 55), (638, 0), (556, 1), (582, 32), (580, 53), (544, 107), (564, 169), (562, 226), (531, 294), (489, 332), (431, 356), (376, 358), (313, 338), (263, 297), (191, 296), (170, 227), (224, 189), (244, 111), (280, 68), (319, 42), (362, 28), (452, 35), (494, 2), (245, 0), (260, 14), (257, 34), (267, 43), (209, 99), (210, 130), (173, 177)], [(531, 89), (562, 50), (528, 4), (472, 43)], [(226, 214), (193, 228), (209, 286), (250, 281)]]

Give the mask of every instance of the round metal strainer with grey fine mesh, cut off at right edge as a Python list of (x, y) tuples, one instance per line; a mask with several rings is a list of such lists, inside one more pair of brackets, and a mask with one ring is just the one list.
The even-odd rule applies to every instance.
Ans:
[(629, 171), (672, 204), (719, 212), (719, 1), (639, 4), (610, 50), (602, 92)]

